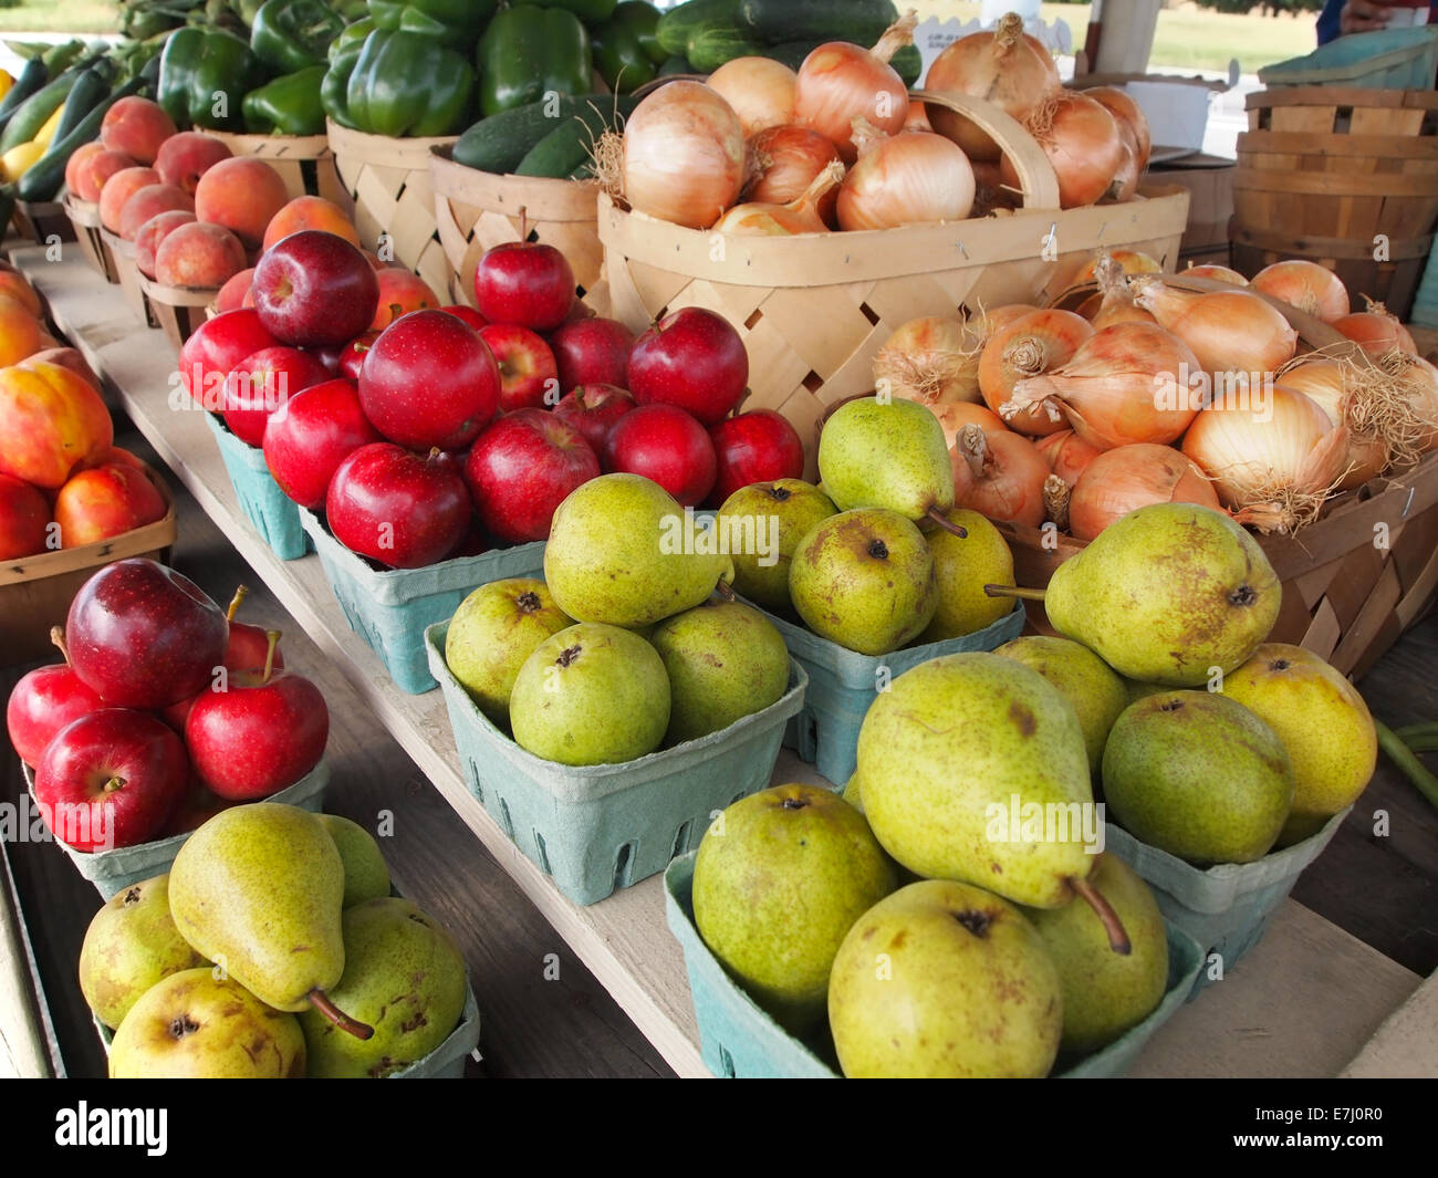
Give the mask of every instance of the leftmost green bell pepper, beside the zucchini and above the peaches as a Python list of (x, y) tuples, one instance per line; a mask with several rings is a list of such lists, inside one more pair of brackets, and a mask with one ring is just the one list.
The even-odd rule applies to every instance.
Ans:
[(240, 104), (265, 76), (260, 59), (233, 33), (175, 29), (160, 55), (157, 98), (181, 127), (239, 131)]

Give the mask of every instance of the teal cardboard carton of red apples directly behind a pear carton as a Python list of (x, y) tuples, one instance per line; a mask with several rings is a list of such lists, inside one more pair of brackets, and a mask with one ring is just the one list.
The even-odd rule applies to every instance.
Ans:
[(394, 685), (423, 695), (436, 685), (424, 653), (424, 630), (454, 616), (480, 585), (506, 577), (544, 577), (544, 541), (456, 557), (424, 568), (374, 568), (345, 548), (313, 512), (299, 522), (315, 544), (325, 578), (349, 629), (370, 643)]

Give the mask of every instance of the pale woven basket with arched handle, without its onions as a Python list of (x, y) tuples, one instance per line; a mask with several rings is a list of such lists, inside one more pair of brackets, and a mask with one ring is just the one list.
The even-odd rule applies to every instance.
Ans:
[(746, 410), (794, 423), (812, 467), (824, 410), (874, 387), (874, 354), (922, 315), (1044, 302), (1096, 246), (1178, 262), (1188, 193), (1058, 209), (1058, 181), (1038, 144), (976, 99), (916, 91), (989, 132), (1014, 163), (1024, 209), (1007, 217), (792, 237), (722, 236), (598, 201), (610, 314), (634, 331), (682, 306), (723, 315), (749, 351)]

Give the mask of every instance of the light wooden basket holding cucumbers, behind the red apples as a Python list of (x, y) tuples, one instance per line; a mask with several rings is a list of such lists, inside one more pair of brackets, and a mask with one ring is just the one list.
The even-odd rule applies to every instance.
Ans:
[(475, 268), (485, 250), (519, 240), (521, 210), (526, 236), (559, 250), (585, 293), (598, 285), (604, 247), (594, 181), (496, 175), (456, 164), (450, 148), (437, 147), (430, 152), (430, 183), (454, 302), (473, 305)]

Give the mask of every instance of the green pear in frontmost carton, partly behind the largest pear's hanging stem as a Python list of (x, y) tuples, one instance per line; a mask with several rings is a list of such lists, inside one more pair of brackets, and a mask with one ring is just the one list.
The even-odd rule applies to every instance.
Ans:
[(1133, 945), (1109, 948), (1109, 933), (1089, 905), (1025, 910), (1048, 946), (1064, 991), (1060, 1050), (1090, 1054), (1148, 1018), (1168, 990), (1168, 932), (1158, 900), (1119, 856), (1099, 856), (1089, 880), (1119, 913)]

